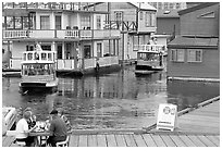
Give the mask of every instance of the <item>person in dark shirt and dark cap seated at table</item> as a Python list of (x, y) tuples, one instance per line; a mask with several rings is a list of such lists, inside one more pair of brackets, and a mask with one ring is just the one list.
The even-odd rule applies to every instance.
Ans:
[(57, 142), (64, 141), (67, 136), (67, 129), (64, 121), (58, 115), (58, 111), (54, 109), (51, 111), (50, 115), (52, 121), (50, 122), (49, 132), (52, 136), (49, 136), (47, 144), (55, 147)]

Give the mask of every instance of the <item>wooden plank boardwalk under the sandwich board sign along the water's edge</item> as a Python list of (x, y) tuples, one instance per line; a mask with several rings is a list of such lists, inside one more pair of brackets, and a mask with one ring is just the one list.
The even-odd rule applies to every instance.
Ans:
[[(70, 147), (220, 147), (220, 100), (182, 114), (168, 131), (74, 131)], [(15, 147), (3, 137), (3, 147)]]

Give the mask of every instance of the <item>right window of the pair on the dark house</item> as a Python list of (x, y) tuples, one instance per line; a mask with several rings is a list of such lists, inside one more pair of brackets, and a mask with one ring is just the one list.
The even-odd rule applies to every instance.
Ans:
[(202, 50), (189, 49), (187, 52), (187, 62), (202, 62)]

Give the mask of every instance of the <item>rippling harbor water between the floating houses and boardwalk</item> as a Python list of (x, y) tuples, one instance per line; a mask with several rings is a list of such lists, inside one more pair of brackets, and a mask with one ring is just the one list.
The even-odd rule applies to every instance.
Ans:
[(30, 107), (38, 120), (62, 107), (75, 129), (141, 128), (157, 121), (160, 103), (178, 111), (220, 95), (219, 83), (166, 80), (165, 71), (135, 76), (134, 65), (99, 76), (59, 77), (54, 94), (21, 95), (21, 78), (2, 78), (2, 105)]

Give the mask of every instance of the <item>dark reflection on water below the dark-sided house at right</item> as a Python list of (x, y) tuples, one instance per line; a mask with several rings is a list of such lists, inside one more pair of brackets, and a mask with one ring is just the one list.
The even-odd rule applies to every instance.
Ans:
[(220, 83), (168, 82), (168, 102), (178, 105), (178, 111), (220, 96)]

